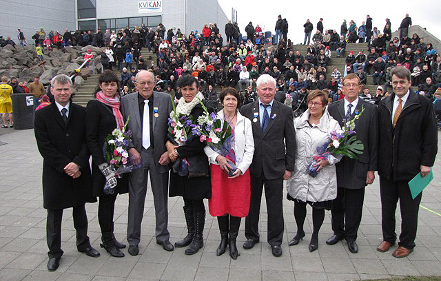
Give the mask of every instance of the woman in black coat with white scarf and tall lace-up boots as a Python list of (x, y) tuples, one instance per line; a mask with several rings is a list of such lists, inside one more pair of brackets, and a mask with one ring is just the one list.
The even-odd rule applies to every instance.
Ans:
[[(204, 113), (199, 101), (203, 94), (198, 92), (199, 83), (193, 76), (185, 75), (178, 79), (178, 87), (182, 90), (183, 97), (176, 106), (178, 114), (189, 115), (197, 122), (198, 117)], [(170, 197), (182, 196), (184, 199), (184, 214), (187, 222), (188, 234), (183, 240), (174, 243), (175, 247), (189, 247), (186, 255), (193, 255), (203, 247), (203, 230), (205, 224), (205, 198), (212, 198), (212, 184), (209, 177), (209, 163), (205, 155), (206, 143), (199, 140), (198, 136), (189, 137), (181, 145), (173, 145), (167, 141), (166, 147), (170, 160), (174, 162), (170, 172)], [(185, 163), (187, 171), (180, 169)]]

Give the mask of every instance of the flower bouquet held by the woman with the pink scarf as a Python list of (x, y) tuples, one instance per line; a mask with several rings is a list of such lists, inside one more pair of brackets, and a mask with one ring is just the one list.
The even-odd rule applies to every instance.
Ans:
[[(134, 169), (141, 167), (141, 165), (132, 165), (129, 153), (127, 152), (127, 147), (132, 138), (132, 132), (126, 130), (129, 119), (127, 118), (123, 129), (114, 129), (112, 134), (105, 138), (104, 142), (105, 160), (114, 169), (116, 178), (121, 178), (121, 174), (130, 173)], [(106, 182), (104, 193), (113, 194), (114, 187), (109, 187)]]

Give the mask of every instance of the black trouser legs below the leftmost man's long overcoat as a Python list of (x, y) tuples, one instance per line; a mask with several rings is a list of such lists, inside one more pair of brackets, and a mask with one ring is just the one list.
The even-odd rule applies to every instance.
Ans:
[[(83, 251), (90, 247), (88, 236), (88, 216), (85, 214), (84, 205), (72, 208), (72, 217), (76, 229), (76, 249)], [(46, 240), (48, 242), (49, 258), (61, 258), (61, 220), (63, 219), (63, 209), (48, 209), (46, 220)]]

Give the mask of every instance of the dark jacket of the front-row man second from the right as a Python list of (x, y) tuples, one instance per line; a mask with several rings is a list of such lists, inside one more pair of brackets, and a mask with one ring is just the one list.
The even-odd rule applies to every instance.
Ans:
[[(375, 105), (358, 98), (358, 104), (353, 115), (362, 107), (365, 111), (356, 121), (356, 134), (365, 149), (358, 155), (358, 160), (343, 157), (336, 164), (337, 185), (349, 189), (360, 189), (366, 186), (367, 171), (376, 171), (378, 163), (378, 113)], [(345, 99), (331, 103), (328, 112), (343, 127), (343, 118), (346, 116)]]

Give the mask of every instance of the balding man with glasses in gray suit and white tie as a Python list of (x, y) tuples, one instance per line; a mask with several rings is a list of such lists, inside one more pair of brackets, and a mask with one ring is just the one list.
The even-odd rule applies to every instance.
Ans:
[(168, 94), (154, 92), (155, 79), (152, 72), (141, 70), (136, 74), (135, 87), (138, 92), (121, 98), (121, 113), (124, 120), (130, 117), (127, 129), (132, 131), (129, 154), (134, 165), (142, 164), (129, 174), (129, 218), (127, 241), (129, 253), (139, 253), (141, 222), (144, 213), (147, 180), (153, 191), (156, 215), (156, 243), (166, 251), (173, 251), (170, 233), (167, 230), (167, 189), (170, 163), (165, 142), (167, 141), (168, 117), (172, 111), (172, 101)]

